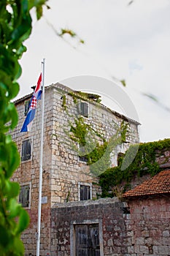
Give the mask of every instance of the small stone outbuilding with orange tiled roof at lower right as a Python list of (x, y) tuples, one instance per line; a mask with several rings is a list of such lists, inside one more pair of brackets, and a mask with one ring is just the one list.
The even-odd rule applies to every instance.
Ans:
[(170, 255), (170, 170), (125, 192), (131, 212), (128, 255)]

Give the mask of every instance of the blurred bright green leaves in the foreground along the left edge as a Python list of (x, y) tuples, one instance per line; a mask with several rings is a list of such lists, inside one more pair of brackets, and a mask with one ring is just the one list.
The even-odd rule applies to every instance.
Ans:
[(17, 203), (20, 187), (10, 181), (20, 164), (17, 146), (7, 135), (18, 123), (15, 105), (11, 102), (19, 91), (21, 75), (19, 59), (26, 51), (23, 45), (31, 34), (30, 11), (36, 8), (42, 16), (45, 0), (0, 1), (0, 252), (1, 256), (23, 255), (20, 233), (28, 226), (28, 214)]

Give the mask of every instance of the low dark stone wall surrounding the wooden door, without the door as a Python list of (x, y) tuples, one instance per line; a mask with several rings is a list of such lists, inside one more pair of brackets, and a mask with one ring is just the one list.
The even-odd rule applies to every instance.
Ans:
[(99, 225), (101, 256), (125, 255), (131, 244), (126, 227), (130, 214), (124, 213), (125, 206), (117, 197), (55, 204), (51, 211), (51, 255), (73, 256), (77, 249), (74, 227), (93, 224)]

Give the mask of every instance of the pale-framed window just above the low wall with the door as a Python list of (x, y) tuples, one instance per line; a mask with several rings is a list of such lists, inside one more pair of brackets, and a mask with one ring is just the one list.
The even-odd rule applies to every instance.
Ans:
[(79, 200), (89, 200), (92, 198), (92, 184), (79, 182), (78, 183), (78, 189), (79, 189)]

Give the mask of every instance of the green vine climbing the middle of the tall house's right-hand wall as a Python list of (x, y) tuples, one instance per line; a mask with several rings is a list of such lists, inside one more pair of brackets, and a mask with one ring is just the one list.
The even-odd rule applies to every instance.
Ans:
[(90, 165), (90, 173), (98, 176), (111, 165), (111, 153), (114, 148), (125, 142), (128, 132), (128, 123), (121, 122), (117, 127), (115, 135), (107, 141), (104, 135), (93, 129), (90, 124), (86, 124), (81, 117), (74, 119), (71, 124), (69, 138), (78, 143), (77, 153), (79, 156), (85, 156), (87, 165)]

